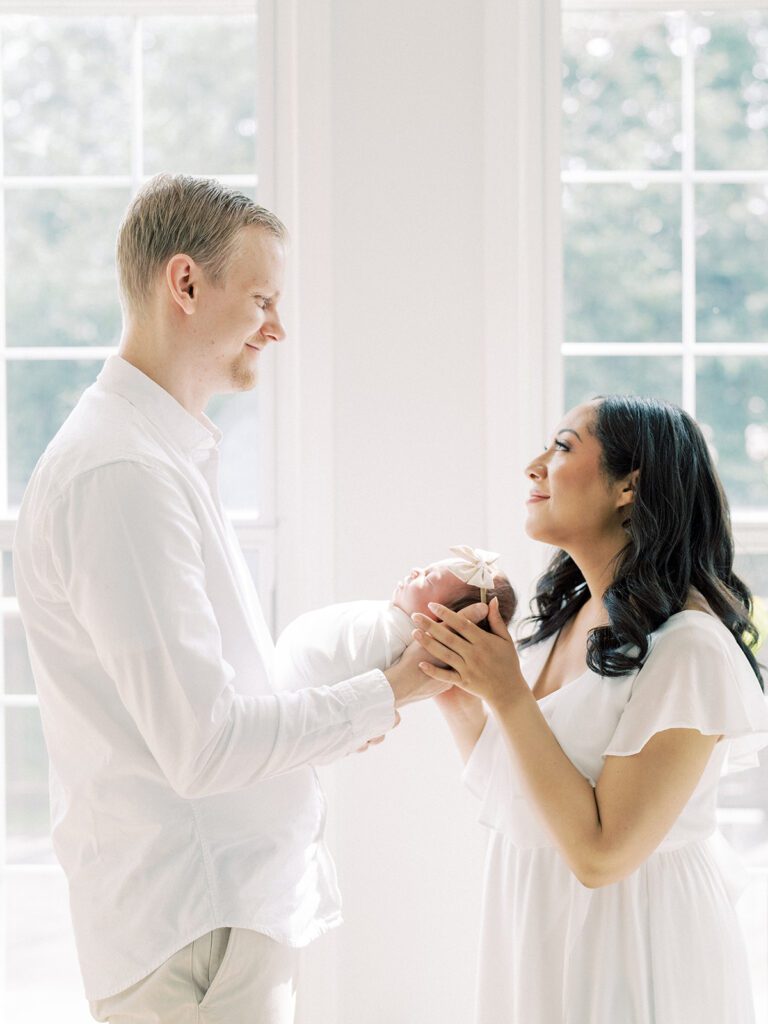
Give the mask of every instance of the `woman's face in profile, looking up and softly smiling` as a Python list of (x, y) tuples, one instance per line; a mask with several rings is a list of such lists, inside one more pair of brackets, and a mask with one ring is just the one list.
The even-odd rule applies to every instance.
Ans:
[(563, 417), (546, 450), (525, 468), (530, 482), (525, 532), (569, 554), (586, 545), (621, 541), (632, 492), (600, 468), (602, 447), (591, 431), (595, 402)]

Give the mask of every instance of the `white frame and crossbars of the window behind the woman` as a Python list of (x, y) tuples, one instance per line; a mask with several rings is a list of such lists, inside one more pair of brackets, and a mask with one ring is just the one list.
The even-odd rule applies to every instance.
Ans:
[[(527, 485), (510, 473), (508, 424), (522, 451), (534, 453), (562, 415), (565, 355), (681, 355), (682, 404), (695, 415), (697, 354), (768, 354), (766, 342), (730, 345), (695, 343), (695, 308), (690, 287), (695, 269), (691, 232), (693, 187), (698, 181), (768, 182), (766, 172), (694, 171), (692, 106), (684, 119), (688, 141), (679, 171), (566, 172), (561, 152), (561, 14), (571, 11), (684, 11), (768, 9), (766, 0), (541, 0), (509, 4), (485, 0), (485, 337), (487, 408), (487, 516), (489, 543), (504, 550), (505, 538), (522, 536)], [(686, 74), (692, 61), (687, 58)], [(530, 87), (530, 83), (535, 87)], [(690, 89), (688, 95), (690, 96)], [(682, 342), (592, 346), (564, 343), (562, 296), (563, 181), (675, 181), (685, 189), (683, 272), (687, 279)], [(768, 552), (768, 510), (734, 509), (740, 553)], [(511, 528), (510, 528), (511, 527)], [(546, 560), (538, 546), (520, 542), (511, 566), (525, 593)]]

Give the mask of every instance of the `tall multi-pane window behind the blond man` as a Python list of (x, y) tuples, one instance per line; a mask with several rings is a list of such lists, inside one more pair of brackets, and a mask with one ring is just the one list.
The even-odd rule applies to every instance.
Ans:
[[(159, 3), (147, 16), (141, 3), (120, 5), (132, 16), (105, 16), (108, 4), (84, 16), (85, 6), (0, 16), (0, 988), (17, 1024), (90, 1017), (50, 846), (45, 746), (11, 574), (14, 516), (38, 457), (119, 340), (114, 242), (132, 193), (161, 170), (183, 171), (265, 201), (258, 170), (269, 148), (258, 130), (255, 4), (210, 3), (208, 14), (197, 4), (190, 14)], [(263, 47), (262, 26), (259, 35)], [(208, 412), (225, 434), (222, 495), (270, 617), (269, 367), (257, 391)]]

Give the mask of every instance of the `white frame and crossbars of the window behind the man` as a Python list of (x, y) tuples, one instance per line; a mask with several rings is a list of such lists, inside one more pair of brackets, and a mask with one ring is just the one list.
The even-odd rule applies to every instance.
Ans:
[[(273, 209), (278, 193), (275, 174), (274, 144), (275, 126), (275, 88), (274, 88), (274, 46), (275, 46), (275, 8), (279, 0), (127, 0), (127, 2), (106, 3), (104, 0), (85, 0), (85, 2), (6, 2), (0, 0), (0, 17), (17, 14), (24, 16), (123, 16), (132, 19), (132, 113), (131, 113), (131, 162), (130, 173), (124, 175), (51, 175), (51, 176), (13, 176), (6, 175), (3, 168), (2, 132), (0, 132), (0, 238), (5, 229), (5, 189), (13, 188), (46, 188), (46, 187), (129, 187), (132, 193), (145, 181), (150, 175), (143, 173), (142, 166), (142, 18), (159, 15), (191, 16), (215, 15), (226, 17), (238, 14), (253, 14), (258, 6), (258, 52), (254, 54), (257, 71), (258, 120), (259, 120), (259, 168), (254, 168), (252, 174), (222, 175), (217, 174), (215, 167), (206, 172), (215, 176), (225, 184), (234, 187), (258, 187), (259, 202)], [(284, 7), (284, 10), (286, 8)], [(0, 33), (2, 27), (0, 26)], [(2, 106), (2, 89), (0, 83), (0, 106)], [(87, 347), (8, 347), (5, 338), (5, 278), (4, 250), (0, 248), (0, 459), (7, 465), (7, 390), (6, 368), (9, 361), (18, 359), (103, 359), (117, 351), (115, 346)], [(278, 422), (276, 388), (280, 384), (273, 366), (274, 360), (265, 365), (260, 376), (259, 430), (266, 443), (261, 445), (260, 463), (254, 471), (259, 473), (260, 508), (257, 513), (250, 511), (231, 512), (237, 536), (244, 550), (256, 551), (259, 555), (260, 593), (267, 620), (274, 621), (274, 579), (275, 558), (279, 547), (279, 530), (276, 515), (275, 486), (275, 447), (278, 438), (275, 427)], [(286, 384), (283, 382), (283, 386)], [(7, 502), (7, 471), (3, 467), (0, 473), (0, 552), (11, 549), (16, 522), (16, 510), (8, 509)], [(17, 615), (18, 605), (15, 598), (3, 597), (0, 608), (4, 616)], [(4, 672), (4, 633), (0, 631), (0, 672)], [(6, 709), (37, 708), (36, 694), (8, 694), (0, 689), (0, 896), (4, 896), (6, 879), (14, 874), (51, 874), (60, 872), (57, 864), (7, 864), (7, 819), (6, 819), (6, 777), (5, 777), (5, 725)], [(5, 900), (0, 906), (0, 1007), (6, 990), (6, 933)]]

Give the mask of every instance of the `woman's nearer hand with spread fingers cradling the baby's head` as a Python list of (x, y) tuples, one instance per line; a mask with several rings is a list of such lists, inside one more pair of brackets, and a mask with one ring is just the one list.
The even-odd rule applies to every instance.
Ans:
[[(440, 621), (434, 622), (418, 612), (414, 614), (412, 617), (417, 626), (414, 639), (447, 668), (421, 662), (419, 668), (425, 675), (453, 683), (481, 697), (490, 707), (504, 705), (521, 692), (530, 692), (496, 598), (488, 608), (492, 633), (441, 604), (430, 604), (429, 609)], [(447, 694), (443, 699), (450, 699)]]

